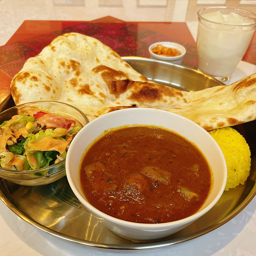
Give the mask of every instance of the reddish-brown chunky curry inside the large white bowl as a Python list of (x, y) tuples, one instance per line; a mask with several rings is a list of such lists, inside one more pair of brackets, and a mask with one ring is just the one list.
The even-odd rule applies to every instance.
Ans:
[(86, 151), (80, 181), (98, 210), (130, 222), (165, 223), (194, 214), (208, 196), (211, 170), (201, 151), (169, 130), (111, 130)]

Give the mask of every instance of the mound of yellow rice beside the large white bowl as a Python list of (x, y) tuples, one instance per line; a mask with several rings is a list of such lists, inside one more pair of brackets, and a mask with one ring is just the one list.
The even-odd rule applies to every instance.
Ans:
[(231, 127), (209, 133), (221, 147), (226, 159), (228, 177), (225, 190), (244, 184), (251, 169), (251, 152), (244, 137)]

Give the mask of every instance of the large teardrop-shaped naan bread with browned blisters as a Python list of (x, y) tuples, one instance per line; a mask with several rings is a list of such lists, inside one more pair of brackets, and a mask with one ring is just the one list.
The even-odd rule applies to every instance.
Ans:
[(53, 100), (89, 118), (130, 107), (183, 115), (205, 130), (256, 119), (256, 74), (228, 86), (181, 91), (148, 81), (95, 38), (67, 33), (29, 58), (11, 83), (15, 104)]

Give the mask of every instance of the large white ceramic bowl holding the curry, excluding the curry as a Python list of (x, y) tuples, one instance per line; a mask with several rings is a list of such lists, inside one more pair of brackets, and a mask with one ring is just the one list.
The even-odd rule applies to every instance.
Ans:
[[(196, 144), (205, 155), (212, 169), (213, 182), (209, 196), (198, 212), (184, 219), (168, 223), (133, 223), (109, 216), (93, 207), (86, 200), (79, 179), (80, 161), (86, 147), (106, 129), (134, 124), (161, 126), (175, 131)], [(103, 225), (114, 233), (133, 241), (155, 240), (188, 226), (214, 206), (221, 197), (227, 180), (224, 155), (207, 131), (183, 116), (151, 108), (129, 108), (113, 111), (84, 126), (70, 144), (66, 158), (66, 173), (71, 189), (88, 211), (100, 218)]]

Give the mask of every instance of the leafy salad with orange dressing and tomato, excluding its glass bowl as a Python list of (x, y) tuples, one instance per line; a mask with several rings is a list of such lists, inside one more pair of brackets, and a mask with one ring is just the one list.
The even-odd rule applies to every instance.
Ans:
[(41, 109), (13, 116), (0, 125), (0, 165), (31, 170), (66, 158), (68, 146), (81, 129), (73, 118)]

